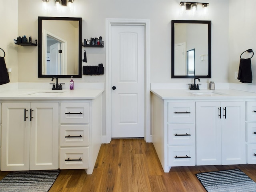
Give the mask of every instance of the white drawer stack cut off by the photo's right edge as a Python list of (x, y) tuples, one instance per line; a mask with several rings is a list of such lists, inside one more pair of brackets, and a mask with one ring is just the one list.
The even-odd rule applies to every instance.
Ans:
[(246, 102), (246, 158), (256, 164), (256, 101)]

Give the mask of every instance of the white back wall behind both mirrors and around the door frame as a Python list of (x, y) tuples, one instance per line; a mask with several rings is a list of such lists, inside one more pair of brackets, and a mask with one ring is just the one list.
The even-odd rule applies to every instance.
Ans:
[[(188, 83), (192, 80), (171, 79), (171, 20), (212, 20), (212, 80), (228, 82), (228, 0), (207, 2), (210, 3), (207, 16), (187, 16), (180, 15), (180, 0), (75, 0), (73, 10), (62, 8), (59, 11), (55, 9), (54, 0), (50, 0), (46, 9), (42, 6), (42, 0), (18, 0), (18, 35), (31, 35), (33, 40), (37, 39), (38, 16), (82, 17), (82, 38), (102, 36), (104, 41), (106, 18), (150, 19), (150, 81)], [(6, 10), (12, 8), (11, 5), (4, 6)], [(13, 44), (13, 38), (15, 36), (8, 38), (7, 43)], [(38, 47), (17, 46), (16, 49), (19, 82), (50, 81), (49, 78), (37, 78)], [(105, 65), (105, 48), (86, 48), (86, 53), (88, 63), (84, 65)], [(83, 76), (75, 81), (105, 82), (105, 75)]]

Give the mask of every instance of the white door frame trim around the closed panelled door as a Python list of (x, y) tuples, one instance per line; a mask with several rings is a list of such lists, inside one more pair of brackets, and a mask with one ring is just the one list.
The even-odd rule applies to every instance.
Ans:
[(144, 26), (144, 140), (152, 142), (150, 135), (150, 20), (106, 18), (106, 143), (111, 141), (111, 26), (140, 25)]

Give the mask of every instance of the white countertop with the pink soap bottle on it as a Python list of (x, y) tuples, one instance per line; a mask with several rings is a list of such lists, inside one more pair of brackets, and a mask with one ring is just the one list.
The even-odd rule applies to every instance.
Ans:
[(1, 91), (0, 100), (92, 100), (100, 96), (102, 92), (104, 89), (15, 89)]

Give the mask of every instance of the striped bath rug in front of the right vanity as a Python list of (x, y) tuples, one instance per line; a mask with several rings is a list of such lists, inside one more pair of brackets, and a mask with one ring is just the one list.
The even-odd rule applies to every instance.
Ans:
[(240, 169), (196, 174), (208, 192), (256, 192), (256, 183)]

